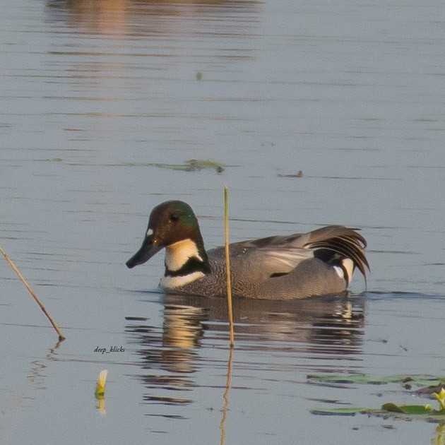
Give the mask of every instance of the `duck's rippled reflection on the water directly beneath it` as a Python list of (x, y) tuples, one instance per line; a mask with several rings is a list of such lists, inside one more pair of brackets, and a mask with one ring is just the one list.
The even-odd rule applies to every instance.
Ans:
[[(144, 396), (148, 403), (189, 403), (191, 394), (186, 391), (198, 386), (196, 372), (208, 366), (213, 366), (217, 374), (226, 372), (227, 302), (166, 295), (163, 304), (162, 327), (127, 321), (129, 342), (136, 343), (141, 362), (138, 378), (148, 388)], [(282, 362), (287, 368), (291, 365), (307, 372), (334, 366), (338, 372), (338, 360), (360, 360), (363, 297), (343, 295), (287, 302), (236, 299), (233, 312), (235, 369), (237, 360), (242, 360), (244, 368), (248, 366), (247, 352), (251, 351), (261, 353), (261, 363), (268, 370), (279, 369)], [(256, 361), (252, 369), (258, 370), (259, 366)], [(161, 388), (167, 392), (153, 395)]]

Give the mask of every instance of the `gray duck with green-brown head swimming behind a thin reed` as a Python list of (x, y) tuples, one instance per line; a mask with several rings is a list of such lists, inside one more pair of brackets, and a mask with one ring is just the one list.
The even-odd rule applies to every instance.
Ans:
[[(229, 244), (232, 296), (302, 299), (346, 292), (357, 268), (365, 283), (367, 242), (359, 229), (328, 225), (312, 232), (278, 235)], [(167, 293), (224, 296), (225, 248), (206, 251), (198, 220), (184, 201), (153, 208), (141, 248), (128, 268), (165, 249), (160, 287)]]

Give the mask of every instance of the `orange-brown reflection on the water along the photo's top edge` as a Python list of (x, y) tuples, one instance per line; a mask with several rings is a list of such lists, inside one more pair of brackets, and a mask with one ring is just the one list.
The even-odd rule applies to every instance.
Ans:
[[(225, 35), (246, 35), (245, 14), (257, 14), (261, 2), (252, 0), (47, 0), (48, 19), (64, 23), (86, 34), (110, 37), (162, 37), (184, 34), (196, 35), (206, 32), (200, 16), (215, 14), (208, 18), (211, 27), (215, 18), (227, 18)], [(187, 26), (178, 26), (186, 20)], [(172, 23), (173, 22), (173, 23)], [(251, 25), (255, 20), (251, 20)], [(174, 24), (175, 23), (175, 24)], [(214, 28), (211, 28), (214, 30)], [(228, 31), (230, 30), (230, 31)]]

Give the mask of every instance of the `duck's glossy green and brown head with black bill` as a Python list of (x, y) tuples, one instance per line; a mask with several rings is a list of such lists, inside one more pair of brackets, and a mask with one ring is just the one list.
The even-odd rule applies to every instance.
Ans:
[[(183, 201), (166, 201), (153, 208), (141, 249), (126, 262), (126, 266), (133, 268), (148, 261), (164, 247), (168, 248), (178, 245), (176, 244), (178, 242), (189, 241), (196, 246), (195, 256), (207, 267), (208, 258), (194, 211)], [(179, 252), (176, 254), (178, 255)]]

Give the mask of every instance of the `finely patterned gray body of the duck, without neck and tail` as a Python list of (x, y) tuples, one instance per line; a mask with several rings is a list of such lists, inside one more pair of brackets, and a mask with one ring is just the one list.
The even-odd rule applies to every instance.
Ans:
[[(303, 234), (230, 244), (232, 295), (252, 299), (298, 299), (344, 292), (347, 280), (340, 278), (328, 263), (314, 258), (312, 251), (300, 247), (308, 239), (309, 236)], [(227, 295), (225, 249), (217, 247), (207, 254), (210, 274), (167, 290), (204, 297)], [(285, 263), (287, 256), (290, 258)]]

